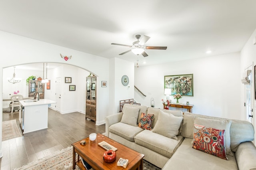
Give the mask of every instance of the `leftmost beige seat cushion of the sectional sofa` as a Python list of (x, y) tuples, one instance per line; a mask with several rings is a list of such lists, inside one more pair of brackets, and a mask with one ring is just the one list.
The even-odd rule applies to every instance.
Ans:
[(111, 125), (108, 129), (111, 133), (121, 136), (131, 142), (134, 142), (134, 136), (136, 136), (136, 134), (144, 130), (121, 122)]

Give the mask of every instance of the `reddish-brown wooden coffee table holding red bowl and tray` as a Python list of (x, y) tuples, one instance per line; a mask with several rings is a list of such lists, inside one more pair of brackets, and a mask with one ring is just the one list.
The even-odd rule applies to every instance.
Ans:
[[(83, 139), (86, 141), (85, 145), (80, 144), (80, 141), (75, 142), (72, 144), (73, 146), (73, 169), (75, 166), (81, 170), (85, 170), (79, 156), (81, 156), (92, 168), (95, 170), (142, 170), (143, 161), (142, 158), (144, 154), (140, 154), (135, 150), (132, 150), (102, 134), (97, 134), (97, 143), (96, 144), (89, 144), (89, 138)], [(111, 163), (106, 163), (103, 160), (103, 154), (106, 151), (102, 148), (98, 143), (105, 141), (108, 144), (117, 148), (116, 150), (116, 160)], [(76, 160), (76, 153), (78, 154), (78, 159)], [(119, 158), (128, 159), (128, 165), (126, 168), (122, 166), (117, 166), (117, 162)]]

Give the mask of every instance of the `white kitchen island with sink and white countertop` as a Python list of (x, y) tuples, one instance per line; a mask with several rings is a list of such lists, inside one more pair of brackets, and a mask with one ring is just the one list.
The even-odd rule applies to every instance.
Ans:
[(19, 119), (23, 133), (48, 128), (48, 107), (52, 103), (57, 102), (49, 99), (20, 101)]

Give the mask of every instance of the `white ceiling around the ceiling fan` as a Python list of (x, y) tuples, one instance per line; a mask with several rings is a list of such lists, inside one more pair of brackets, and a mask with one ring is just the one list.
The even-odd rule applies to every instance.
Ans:
[[(256, 29), (255, 7), (256, 0), (1, 0), (0, 30), (151, 65), (241, 51)], [(131, 45), (136, 34), (167, 49), (118, 55), (130, 48), (111, 43)]]

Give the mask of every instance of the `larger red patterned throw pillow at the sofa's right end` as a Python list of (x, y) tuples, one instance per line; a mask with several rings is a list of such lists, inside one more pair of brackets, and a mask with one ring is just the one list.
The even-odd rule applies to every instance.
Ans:
[(228, 160), (224, 133), (225, 130), (194, 124), (193, 148)]

